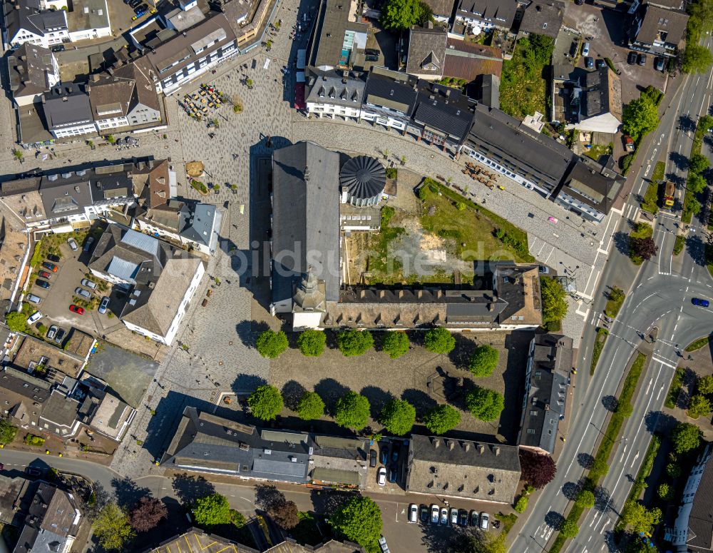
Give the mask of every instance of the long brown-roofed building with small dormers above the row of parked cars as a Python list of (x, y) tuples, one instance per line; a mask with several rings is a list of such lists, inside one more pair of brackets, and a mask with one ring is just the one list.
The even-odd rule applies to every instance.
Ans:
[(406, 492), (512, 503), (520, 482), (518, 447), (411, 435)]

